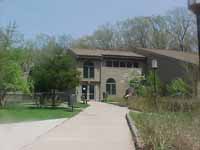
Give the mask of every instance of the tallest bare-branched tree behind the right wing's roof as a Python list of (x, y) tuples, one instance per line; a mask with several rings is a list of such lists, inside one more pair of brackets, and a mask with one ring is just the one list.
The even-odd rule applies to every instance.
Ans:
[(171, 35), (171, 48), (180, 51), (192, 49), (190, 45), (190, 28), (194, 17), (185, 8), (177, 8), (166, 16), (167, 31)]

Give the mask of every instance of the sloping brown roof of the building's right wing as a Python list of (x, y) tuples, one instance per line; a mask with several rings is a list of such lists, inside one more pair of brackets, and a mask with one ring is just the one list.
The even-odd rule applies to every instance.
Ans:
[(199, 64), (198, 63), (198, 60), (199, 60), (198, 54), (195, 54), (195, 53), (180, 52), (180, 51), (176, 51), (176, 50), (165, 50), (165, 49), (162, 50), (162, 49), (137, 48), (137, 51), (139, 51), (139, 50), (171, 57), (171, 58), (181, 60), (184, 62), (188, 62), (188, 63)]

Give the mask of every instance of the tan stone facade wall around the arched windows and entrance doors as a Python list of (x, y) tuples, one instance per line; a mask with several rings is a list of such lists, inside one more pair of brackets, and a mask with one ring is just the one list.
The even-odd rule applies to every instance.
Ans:
[[(85, 79), (83, 76), (84, 63), (94, 63), (94, 78)], [(81, 73), (81, 85), (77, 87), (78, 100), (81, 100), (82, 96), (82, 85), (92, 84), (95, 86), (95, 99), (100, 101), (103, 99), (103, 93), (106, 93), (106, 82), (108, 79), (114, 79), (116, 81), (116, 95), (109, 95), (110, 97), (123, 97), (125, 91), (129, 88), (129, 81), (132, 79), (132, 75), (142, 75), (143, 62), (139, 63), (139, 68), (121, 68), (121, 67), (107, 67), (105, 61), (94, 60), (94, 59), (79, 59), (78, 60), (78, 71)], [(89, 97), (89, 95), (87, 95)], [(88, 98), (89, 100), (89, 98)]]

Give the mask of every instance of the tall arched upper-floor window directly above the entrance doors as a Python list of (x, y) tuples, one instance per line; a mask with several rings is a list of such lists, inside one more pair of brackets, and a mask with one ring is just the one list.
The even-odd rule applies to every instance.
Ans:
[(85, 79), (94, 78), (94, 64), (92, 62), (85, 62), (83, 65), (83, 77)]

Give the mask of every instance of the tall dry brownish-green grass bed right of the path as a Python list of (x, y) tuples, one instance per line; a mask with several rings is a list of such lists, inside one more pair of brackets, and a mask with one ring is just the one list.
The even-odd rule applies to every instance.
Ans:
[(152, 98), (109, 99), (126, 105), (147, 150), (200, 150), (200, 100), (159, 97), (159, 108)]

